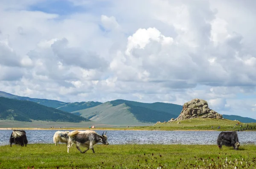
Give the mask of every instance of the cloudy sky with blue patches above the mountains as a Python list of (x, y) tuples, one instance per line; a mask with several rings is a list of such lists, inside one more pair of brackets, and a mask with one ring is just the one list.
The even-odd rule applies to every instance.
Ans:
[(1, 0), (0, 91), (256, 119), (256, 1)]

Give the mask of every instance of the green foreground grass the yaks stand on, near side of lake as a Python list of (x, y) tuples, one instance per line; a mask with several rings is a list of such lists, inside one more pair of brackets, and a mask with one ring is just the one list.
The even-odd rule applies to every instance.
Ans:
[[(83, 148), (82, 148), (83, 150)], [(28, 144), (0, 146), (0, 169), (162, 169), (170, 168), (253, 168), (256, 146), (242, 145), (238, 151), (216, 145), (109, 145), (97, 144), (95, 154), (81, 154), (73, 145)], [(227, 158), (227, 163), (226, 163)], [(217, 167), (218, 166), (218, 167)], [(221, 167), (219, 167), (221, 166)], [(225, 166), (225, 167), (224, 167)]]

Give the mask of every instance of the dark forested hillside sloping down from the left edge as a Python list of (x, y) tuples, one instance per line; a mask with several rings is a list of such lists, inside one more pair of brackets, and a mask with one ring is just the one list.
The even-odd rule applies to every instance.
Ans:
[(43, 106), (28, 100), (0, 97), (0, 120), (81, 122), (87, 118)]

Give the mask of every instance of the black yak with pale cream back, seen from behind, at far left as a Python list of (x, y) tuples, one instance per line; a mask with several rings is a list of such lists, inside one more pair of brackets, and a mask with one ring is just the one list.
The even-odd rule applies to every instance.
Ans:
[(13, 130), (10, 137), (10, 146), (12, 146), (12, 143), (19, 144), (20, 146), (25, 145), (26, 147), (28, 143), (26, 132), (24, 130)]

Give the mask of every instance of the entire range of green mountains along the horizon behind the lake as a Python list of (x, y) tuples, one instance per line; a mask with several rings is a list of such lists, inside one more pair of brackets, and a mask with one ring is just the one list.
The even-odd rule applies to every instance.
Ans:
[[(4, 100), (3, 97), (9, 98), (9, 100)], [(58, 100), (21, 97), (1, 91), (0, 98), (0, 119), (21, 121), (63, 121), (68, 119), (69, 122), (92, 120), (98, 123), (112, 125), (140, 125), (141, 123), (156, 123), (157, 121), (163, 122), (171, 118), (176, 118), (180, 115), (183, 107), (172, 103), (141, 103), (129, 100), (112, 100), (105, 103), (93, 101), (65, 103)], [(23, 106), (21, 109), (15, 106), (15, 104), (24, 104), (26, 106)], [(52, 114), (48, 114), (47, 118), (41, 116), (43, 115), (41, 113), (42, 110), (47, 110)], [(14, 112), (15, 115), (13, 114)], [(59, 117), (60, 119), (56, 116), (56, 112), (62, 115), (62, 117)], [(52, 118), (50, 118), (51, 116)], [(223, 115), (223, 117), (230, 120), (239, 120), (243, 123), (256, 122), (253, 118), (236, 115)]]

